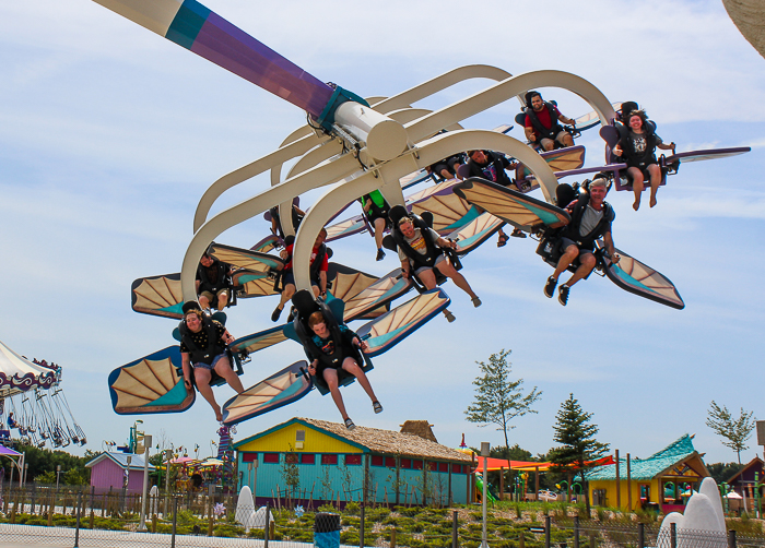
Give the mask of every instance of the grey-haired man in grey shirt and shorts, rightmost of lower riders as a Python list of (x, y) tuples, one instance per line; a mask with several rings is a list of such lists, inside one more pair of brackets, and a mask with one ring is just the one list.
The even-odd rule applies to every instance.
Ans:
[(568, 282), (561, 285), (557, 300), (564, 307), (568, 302), (568, 291), (579, 279), (587, 277), (596, 265), (595, 241), (603, 238), (605, 248), (614, 263), (619, 262), (619, 254), (613, 247), (611, 237), (611, 222), (615, 214), (613, 207), (604, 202), (608, 193), (608, 181), (597, 177), (590, 182), (588, 192), (582, 192), (579, 199), (565, 207), (572, 216), (570, 223), (563, 229), (560, 246), (563, 251), (555, 266), (555, 272), (548, 278), (544, 286), (544, 295), (552, 298), (555, 294), (557, 278), (578, 258), (579, 267), (574, 272)]

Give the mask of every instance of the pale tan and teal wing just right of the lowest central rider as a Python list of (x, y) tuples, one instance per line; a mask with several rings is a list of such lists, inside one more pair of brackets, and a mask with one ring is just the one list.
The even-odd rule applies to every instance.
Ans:
[(374, 358), (388, 352), (449, 306), (449, 302), (451, 299), (444, 289), (436, 287), (363, 325), (356, 333), (368, 345), (365, 357)]

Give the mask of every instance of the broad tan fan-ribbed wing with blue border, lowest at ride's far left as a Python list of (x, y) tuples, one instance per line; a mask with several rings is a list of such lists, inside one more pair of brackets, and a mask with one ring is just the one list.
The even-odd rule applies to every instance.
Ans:
[(180, 367), (180, 347), (168, 346), (111, 371), (108, 383), (115, 413), (179, 413), (191, 407), (196, 393), (184, 384)]

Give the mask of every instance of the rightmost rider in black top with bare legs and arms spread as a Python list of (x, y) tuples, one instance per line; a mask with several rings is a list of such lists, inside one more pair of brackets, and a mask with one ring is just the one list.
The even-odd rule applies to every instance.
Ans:
[(635, 192), (633, 210), (640, 207), (640, 195), (645, 188), (644, 181), (650, 181), (650, 206), (656, 205), (656, 191), (661, 184), (661, 168), (656, 159), (656, 147), (662, 151), (672, 151), (674, 143), (664, 144), (656, 134), (656, 124), (651, 123), (645, 110), (633, 110), (627, 119), (628, 129), (620, 132), (619, 144), (613, 147), (616, 156), (624, 158), (627, 165), (627, 177), (632, 179), (632, 188)]

